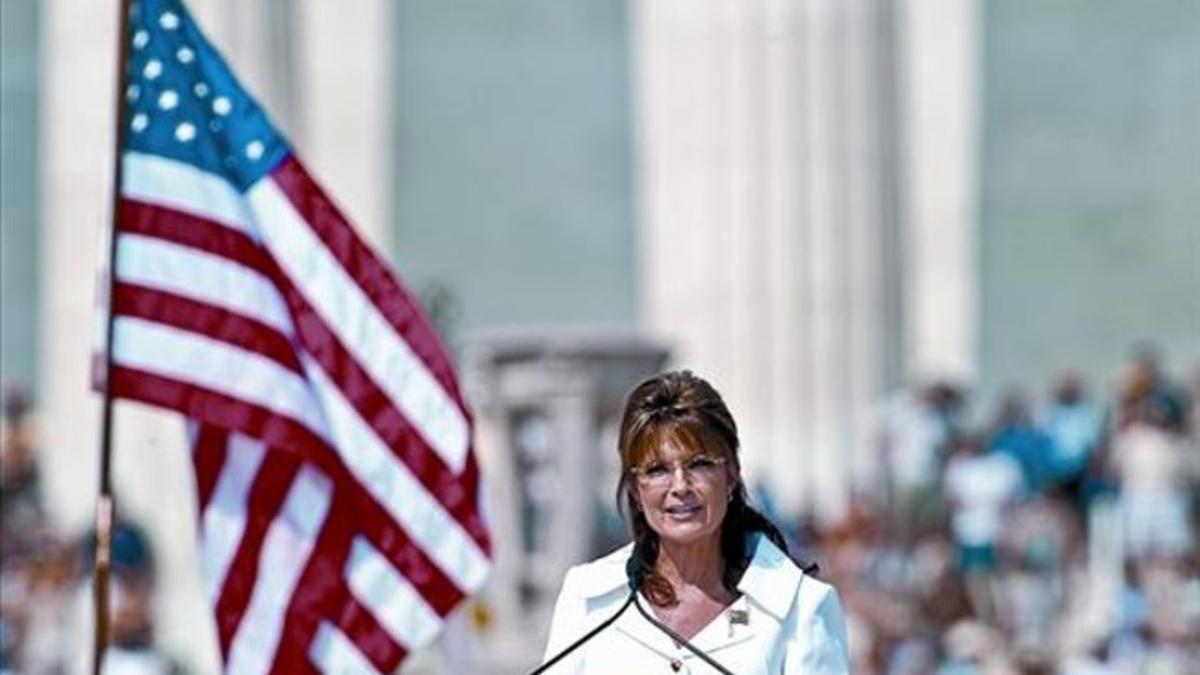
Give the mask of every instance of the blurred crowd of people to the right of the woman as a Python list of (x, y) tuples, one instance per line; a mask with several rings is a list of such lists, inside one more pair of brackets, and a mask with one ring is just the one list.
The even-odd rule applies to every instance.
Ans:
[(841, 591), (854, 671), (1200, 673), (1200, 371), (1141, 350), (968, 423), (935, 383), (881, 414), (884, 479), (803, 524)]

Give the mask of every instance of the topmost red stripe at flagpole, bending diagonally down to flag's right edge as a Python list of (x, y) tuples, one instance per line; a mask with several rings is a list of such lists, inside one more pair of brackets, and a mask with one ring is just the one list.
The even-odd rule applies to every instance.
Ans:
[[(122, 227), (149, 237), (204, 250), (253, 267), (271, 279), (283, 293), (295, 324), (298, 339), (337, 383), (362, 419), (392, 449), (436, 500), (460, 522), (463, 530), (491, 555), (487, 527), (479, 514), (479, 466), (468, 448), (463, 472), (456, 474), (396, 408), (395, 402), (359, 365), (332, 330), (283, 274), (275, 261), (245, 234), (211, 221), (178, 214), (169, 209), (126, 202), (131, 211)], [(344, 223), (343, 223), (344, 225)], [(424, 318), (422, 318), (424, 321)], [(178, 405), (162, 404), (187, 412)], [(239, 411), (240, 412), (240, 411)], [(467, 411), (463, 410), (464, 414)], [(193, 413), (188, 413), (193, 414)], [(196, 416), (196, 414), (193, 414)], [(196, 416), (199, 417), (199, 416)], [(469, 417), (468, 417), (469, 423)], [(215, 423), (242, 429), (239, 424)], [(258, 437), (258, 436), (256, 436)], [(275, 444), (275, 443), (272, 443)], [(280, 443), (283, 446), (283, 443)], [(286, 446), (284, 446), (286, 447)]]

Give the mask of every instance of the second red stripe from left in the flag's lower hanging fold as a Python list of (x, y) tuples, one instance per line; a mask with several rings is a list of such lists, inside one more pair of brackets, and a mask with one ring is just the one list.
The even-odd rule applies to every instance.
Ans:
[[(300, 461), (296, 458), (268, 448), (254, 478), (254, 484), (251, 486), (246, 507), (246, 528), (214, 608), (217, 619), (217, 637), (224, 658), (229, 657), (229, 645), (233, 643), (233, 637), (238, 632), (238, 626), (246, 614), (250, 598), (254, 592), (254, 583), (259, 574), (259, 555), (263, 550), (266, 531), (278, 514), (288, 488), (292, 486), (292, 480), (299, 470)], [(269, 569), (263, 571), (266, 574), (270, 572)]]

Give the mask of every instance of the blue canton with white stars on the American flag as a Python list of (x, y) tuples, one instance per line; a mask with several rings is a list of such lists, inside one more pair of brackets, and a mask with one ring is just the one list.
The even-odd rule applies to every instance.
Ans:
[(180, 0), (130, 8), (125, 148), (186, 162), (245, 191), (290, 151)]

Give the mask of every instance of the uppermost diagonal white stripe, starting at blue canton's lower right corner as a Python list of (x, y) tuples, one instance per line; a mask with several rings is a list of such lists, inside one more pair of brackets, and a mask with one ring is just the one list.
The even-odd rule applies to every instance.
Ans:
[(259, 180), (246, 196), (262, 228), (263, 243), (292, 282), (433, 450), (461, 472), (467, 460), (469, 429), (455, 401), (274, 180)]

